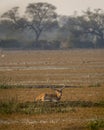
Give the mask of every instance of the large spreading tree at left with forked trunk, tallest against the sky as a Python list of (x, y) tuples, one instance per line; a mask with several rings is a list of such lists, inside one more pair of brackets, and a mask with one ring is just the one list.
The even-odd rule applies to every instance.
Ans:
[(8, 23), (14, 30), (30, 29), (35, 32), (35, 44), (38, 46), (43, 31), (55, 28), (57, 23), (56, 7), (48, 3), (31, 3), (26, 7), (25, 15), (20, 17), (19, 7), (14, 7), (2, 15), (2, 22)]

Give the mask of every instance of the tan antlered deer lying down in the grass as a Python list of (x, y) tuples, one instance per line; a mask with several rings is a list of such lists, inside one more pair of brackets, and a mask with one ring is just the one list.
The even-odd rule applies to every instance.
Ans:
[(58, 101), (60, 101), (60, 99), (62, 97), (62, 91), (64, 88), (65, 88), (65, 86), (62, 87), (61, 89), (56, 89), (54, 87), (51, 87), (51, 89), (55, 91), (54, 93), (42, 93), (36, 97), (35, 101), (58, 102)]

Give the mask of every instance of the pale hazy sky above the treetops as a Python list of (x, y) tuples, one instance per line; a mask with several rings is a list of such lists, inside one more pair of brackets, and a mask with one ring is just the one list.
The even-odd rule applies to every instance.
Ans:
[(63, 15), (71, 15), (74, 11), (81, 12), (88, 7), (104, 9), (104, 0), (0, 0), (0, 14), (14, 6), (19, 6), (23, 10), (28, 3), (40, 1), (55, 5), (57, 13)]

